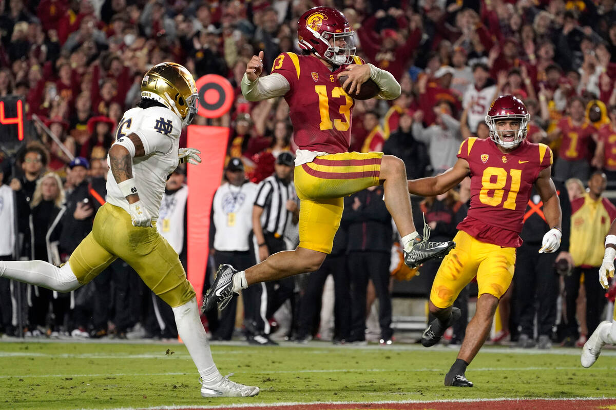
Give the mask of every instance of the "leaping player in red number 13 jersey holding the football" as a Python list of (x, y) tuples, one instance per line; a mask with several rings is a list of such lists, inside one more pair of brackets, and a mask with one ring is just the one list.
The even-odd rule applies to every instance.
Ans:
[[(355, 101), (349, 93), (368, 79), (379, 89), (379, 98), (400, 95), (394, 77), (355, 56), (354, 32), (336, 9), (314, 7), (299, 17), (298, 41), (304, 52), (282, 53), (274, 60), (272, 74), (259, 77), (263, 52), (253, 56), (241, 81), (249, 101), (284, 96), (289, 104), (296, 151), (294, 183), (299, 208), (299, 246), (271, 255), (260, 264), (237, 272), (221, 265), (204, 299), (204, 309), (223, 309), (239, 292), (254, 283), (278, 280), (317, 270), (331, 252), (342, 216), (342, 198), (370, 186), (383, 184), (385, 205), (398, 227), (408, 266), (446, 254), (453, 242), (421, 239), (411, 216), (405, 165), (383, 152), (347, 152), (351, 144), (351, 112)], [(343, 87), (339, 76), (348, 76)], [(265, 246), (265, 243), (257, 243)]]

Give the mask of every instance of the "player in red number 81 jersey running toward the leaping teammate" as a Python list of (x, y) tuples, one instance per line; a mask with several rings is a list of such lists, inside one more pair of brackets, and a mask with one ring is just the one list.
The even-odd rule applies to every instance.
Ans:
[(458, 293), (477, 276), (477, 311), (447, 375), (445, 385), (472, 387), (464, 372), (488, 336), (498, 301), (513, 278), (519, 233), (533, 184), (543, 200), (543, 213), (551, 230), (543, 237), (541, 252), (554, 252), (561, 243), (561, 205), (550, 178), (552, 151), (525, 139), (530, 116), (513, 95), (496, 98), (485, 116), (490, 138), (468, 138), (460, 146), (458, 161), (447, 172), (408, 181), (411, 194), (434, 196), (471, 177), (471, 207), (458, 224), (456, 243), (440, 264), (432, 283), (430, 312), (436, 317), (421, 336), (426, 347), (437, 344), (460, 310), (453, 308)]

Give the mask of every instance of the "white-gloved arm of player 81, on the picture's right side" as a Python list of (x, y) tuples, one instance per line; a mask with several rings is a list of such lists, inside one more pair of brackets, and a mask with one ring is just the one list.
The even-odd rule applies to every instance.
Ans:
[(543, 214), (551, 229), (543, 235), (543, 242), (539, 253), (552, 253), (561, 246), (562, 238), (562, 210), (561, 200), (550, 174), (552, 167), (545, 168), (539, 173), (535, 187), (543, 201)]

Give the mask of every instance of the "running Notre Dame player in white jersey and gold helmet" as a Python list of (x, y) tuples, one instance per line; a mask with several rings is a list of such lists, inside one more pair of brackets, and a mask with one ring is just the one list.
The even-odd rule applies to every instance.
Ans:
[(67, 292), (90, 282), (116, 258), (124, 259), (145, 284), (173, 309), (177, 332), (201, 376), (201, 395), (255, 396), (258, 387), (222, 377), (201, 325), (195, 290), (171, 245), (156, 231), (167, 176), (178, 162), (198, 164), (200, 151), (178, 149), (180, 132), (197, 112), (197, 87), (175, 63), (151, 68), (141, 83), (141, 101), (124, 113), (109, 149), (107, 203), (92, 232), (67, 264), (0, 261), (0, 277)]

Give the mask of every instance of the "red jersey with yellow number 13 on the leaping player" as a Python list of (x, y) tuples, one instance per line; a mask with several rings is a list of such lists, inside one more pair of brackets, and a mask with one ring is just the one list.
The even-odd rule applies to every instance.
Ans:
[[(354, 60), (363, 64), (359, 57)], [(282, 53), (274, 60), (272, 74), (281, 74), (290, 85), (285, 100), (299, 149), (328, 154), (349, 151), (355, 100), (338, 83), (338, 74), (346, 67), (331, 71), (314, 55), (295, 53)]]

